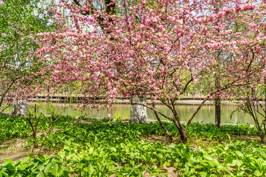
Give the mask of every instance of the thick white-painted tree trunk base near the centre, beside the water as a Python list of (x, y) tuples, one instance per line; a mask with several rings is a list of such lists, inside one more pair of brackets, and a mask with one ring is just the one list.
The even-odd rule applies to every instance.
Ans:
[(146, 105), (146, 97), (145, 96), (132, 96), (131, 97), (131, 123), (148, 123), (146, 107), (138, 105), (138, 103)]

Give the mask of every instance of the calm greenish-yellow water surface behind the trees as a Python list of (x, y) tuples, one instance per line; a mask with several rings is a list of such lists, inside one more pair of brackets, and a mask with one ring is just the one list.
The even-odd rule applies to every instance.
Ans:
[[(33, 110), (32, 105), (34, 105), (34, 102), (29, 102), (29, 110)], [(59, 113), (60, 111), (63, 111), (63, 115), (69, 115), (69, 116), (81, 116), (81, 115), (87, 115), (87, 117), (92, 118), (103, 118), (107, 117), (107, 114), (111, 114), (111, 118), (130, 118), (130, 104), (116, 104), (113, 105), (111, 108), (109, 108), (108, 112), (103, 107), (99, 108), (99, 111), (97, 109), (90, 109), (90, 106), (87, 107), (85, 111), (80, 111), (77, 104), (64, 104), (64, 103), (52, 103), (52, 105), (55, 107), (56, 113)], [(236, 105), (228, 104), (228, 105), (222, 105), (221, 106), (221, 123), (249, 123), (254, 124), (254, 120), (249, 115), (245, 115), (243, 112), (235, 112), (233, 117), (230, 118), (231, 113), (235, 109)], [(172, 116), (169, 109), (162, 104), (157, 104), (156, 108), (158, 111), (166, 114), (167, 116)], [(178, 115), (181, 119), (181, 121), (188, 121), (189, 118), (193, 115), (195, 110), (198, 108), (198, 105), (184, 105), (180, 104), (177, 105), (178, 108)], [(12, 108), (8, 108), (5, 110), (5, 112), (11, 112)], [(41, 111), (41, 107), (37, 107), (37, 112)], [(44, 114), (47, 114), (45, 110), (43, 110)], [(85, 114), (86, 113), (86, 114)], [(215, 122), (215, 108), (213, 105), (204, 105), (199, 110), (198, 114), (195, 116), (193, 121), (197, 122)], [(153, 111), (147, 109), (147, 117), (149, 119), (155, 119)], [(165, 119), (165, 118), (162, 118)], [(262, 121), (262, 117), (259, 118), (259, 121)]]

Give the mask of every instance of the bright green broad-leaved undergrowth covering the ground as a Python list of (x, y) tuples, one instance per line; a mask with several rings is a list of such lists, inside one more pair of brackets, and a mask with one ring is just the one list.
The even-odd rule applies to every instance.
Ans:
[[(22, 119), (11, 121), (6, 118), (0, 119), (2, 140), (30, 136), (29, 127)], [(158, 123), (91, 120), (91, 124), (85, 124), (66, 121), (69, 118), (72, 119), (61, 118), (54, 127), (56, 131), (49, 134), (45, 143), (46, 148), (59, 152), (51, 156), (27, 157), (15, 163), (5, 159), (0, 166), (0, 177), (164, 177), (167, 176), (164, 166), (176, 168), (183, 177), (266, 176), (266, 147), (253, 141), (231, 139), (231, 134), (255, 135), (256, 130), (247, 124), (218, 129), (212, 124), (193, 123), (188, 130), (190, 139), (210, 142), (209, 147), (199, 146), (195, 150), (191, 144), (139, 140), (139, 137), (149, 135), (165, 136)], [(177, 139), (178, 131), (174, 125), (164, 123)], [(5, 125), (12, 130), (20, 128), (20, 133), (16, 133), (17, 130), (6, 133)], [(49, 124), (40, 126), (45, 130)], [(38, 141), (42, 138), (38, 137)]]

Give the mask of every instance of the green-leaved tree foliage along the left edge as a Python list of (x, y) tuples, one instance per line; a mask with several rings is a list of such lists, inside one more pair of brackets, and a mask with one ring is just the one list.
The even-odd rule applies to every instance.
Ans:
[(26, 100), (41, 82), (33, 53), (38, 48), (34, 33), (49, 31), (45, 0), (0, 1), (0, 113), (17, 99)]

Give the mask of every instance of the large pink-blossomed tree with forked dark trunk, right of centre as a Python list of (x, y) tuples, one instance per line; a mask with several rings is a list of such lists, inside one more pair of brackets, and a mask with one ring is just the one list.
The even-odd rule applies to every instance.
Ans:
[[(221, 0), (218, 13), (215, 0), (111, 0), (99, 1), (99, 8), (90, 8), (91, 1), (82, 7), (61, 1), (69, 14), (62, 18), (55, 11), (58, 31), (37, 34), (36, 57), (53, 61), (45, 68), (52, 71), (50, 86), (81, 82), (77, 89), (86, 90), (87, 97), (103, 97), (107, 106), (121, 95), (143, 95), (150, 104), (134, 104), (153, 110), (171, 140), (160, 117), (174, 122), (186, 142), (188, 126), (205, 101), (228, 99), (237, 88), (265, 79), (266, 7), (261, 1)], [(124, 15), (106, 12), (111, 4)], [(208, 95), (183, 127), (176, 101), (195, 86)], [(158, 111), (156, 100), (172, 116)]]

